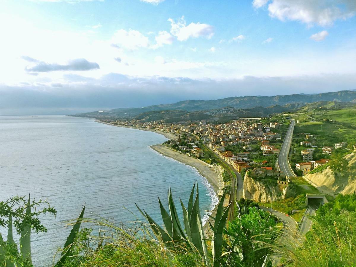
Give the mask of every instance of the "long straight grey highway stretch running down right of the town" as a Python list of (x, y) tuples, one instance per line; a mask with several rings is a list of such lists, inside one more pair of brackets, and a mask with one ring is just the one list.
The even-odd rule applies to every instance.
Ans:
[(287, 174), (287, 176), (296, 176), (289, 164), (288, 154), (290, 149), (290, 144), (292, 143), (293, 130), (294, 130), (295, 120), (290, 120), (290, 124), (284, 137), (281, 150), (278, 154), (278, 167), (279, 169)]

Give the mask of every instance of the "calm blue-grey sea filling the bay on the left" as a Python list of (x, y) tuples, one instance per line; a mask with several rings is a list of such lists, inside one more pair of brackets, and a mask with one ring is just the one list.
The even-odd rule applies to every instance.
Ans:
[[(213, 190), (194, 168), (164, 157), (149, 146), (166, 141), (154, 132), (114, 127), (63, 116), (0, 116), (0, 200), (28, 195), (48, 198), (57, 216), (41, 217), (47, 233), (32, 234), (35, 266), (51, 264), (70, 232), (65, 221), (100, 215), (115, 223), (135, 220), (135, 202), (160, 221), (157, 196), (167, 204), (172, 187), (187, 203), (195, 180), (201, 209), (216, 203)], [(212, 203), (213, 202), (213, 203)], [(0, 229), (3, 236), (6, 231)], [(17, 240), (18, 241), (18, 240)]]

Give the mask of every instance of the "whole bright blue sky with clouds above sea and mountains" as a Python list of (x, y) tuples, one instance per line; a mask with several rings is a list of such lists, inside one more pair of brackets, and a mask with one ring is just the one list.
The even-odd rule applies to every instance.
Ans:
[(356, 89), (355, 0), (0, 6), (0, 115)]

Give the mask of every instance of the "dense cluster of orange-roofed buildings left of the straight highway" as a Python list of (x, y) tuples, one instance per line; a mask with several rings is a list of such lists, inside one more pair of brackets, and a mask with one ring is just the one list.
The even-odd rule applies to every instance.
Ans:
[[(279, 129), (281, 127), (280, 123), (269, 122), (268, 124), (263, 124), (258, 118), (237, 119), (225, 124), (213, 124), (208, 120), (181, 121), (176, 124), (165, 123), (164, 121), (117, 121), (116, 123), (179, 134), (184, 132), (193, 133), (194, 135), (199, 136), (200, 140), (238, 172), (241, 172), (243, 169), (251, 168), (249, 157), (250, 154), (256, 153), (252, 152), (251, 145), (260, 145), (263, 155), (276, 155), (279, 153), (279, 149), (269, 143), (272, 140), (281, 140), (281, 135), (277, 132), (273, 132), (274, 129)], [(193, 153), (197, 157), (204, 155), (204, 152), (197, 147), (195, 143), (190, 143), (189, 145), (191, 145), (191, 148), (187, 146), (179, 146), (179, 150)], [(233, 153), (232, 151), (225, 150), (225, 147), (229, 145), (241, 145), (244, 151)], [(266, 162), (267, 161), (265, 161), (265, 163)], [(269, 168), (271, 167), (262, 167), (262, 170), (271, 172), (272, 168), (271, 170)]]

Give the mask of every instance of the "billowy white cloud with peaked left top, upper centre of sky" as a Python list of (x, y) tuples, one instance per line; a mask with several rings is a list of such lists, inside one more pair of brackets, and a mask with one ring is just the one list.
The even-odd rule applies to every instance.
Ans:
[(184, 16), (175, 22), (172, 19), (168, 20), (171, 22), (171, 33), (176, 36), (178, 41), (187, 41), (190, 37), (198, 38), (205, 37), (210, 39), (214, 35), (214, 27), (206, 23), (187, 23), (184, 20)]

